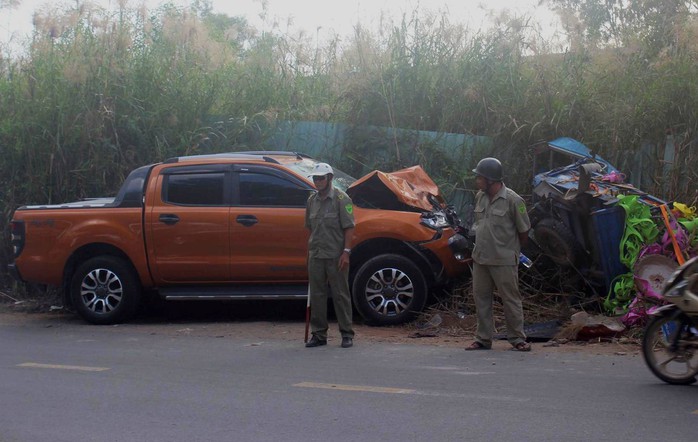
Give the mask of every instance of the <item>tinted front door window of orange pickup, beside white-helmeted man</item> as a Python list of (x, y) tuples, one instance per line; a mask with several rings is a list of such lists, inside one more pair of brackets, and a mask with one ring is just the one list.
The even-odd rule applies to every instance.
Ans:
[(263, 173), (240, 173), (240, 205), (305, 207), (310, 190)]

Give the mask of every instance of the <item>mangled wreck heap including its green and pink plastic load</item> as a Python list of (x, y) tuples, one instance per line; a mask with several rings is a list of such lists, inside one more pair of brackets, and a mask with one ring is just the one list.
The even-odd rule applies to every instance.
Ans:
[[(538, 270), (557, 269), (567, 288), (605, 298), (632, 325), (671, 271), (696, 247), (695, 208), (663, 201), (572, 138), (534, 147), (531, 245)], [(677, 239), (678, 238), (678, 239)], [(646, 306), (647, 304), (647, 306)]]

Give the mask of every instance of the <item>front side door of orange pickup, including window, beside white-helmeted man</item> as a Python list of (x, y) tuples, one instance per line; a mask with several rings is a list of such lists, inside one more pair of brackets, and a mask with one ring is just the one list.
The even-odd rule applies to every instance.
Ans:
[(231, 277), (246, 282), (307, 280), (307, 183), (272, 167), (239, 166), (230, 210)]

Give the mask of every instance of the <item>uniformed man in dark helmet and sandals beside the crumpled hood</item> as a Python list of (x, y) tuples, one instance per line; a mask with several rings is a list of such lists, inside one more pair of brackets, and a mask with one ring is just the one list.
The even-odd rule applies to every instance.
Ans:
[(518, 285), (521, 245), (526, 243), (531, 222), (523, 198), (503, 182), (502, 164), (483, 158), (473, 170), (478, 188), (475, 196), (473, 249), (473, 297), (477, 309), (475, 341), (466, 350), (492, 348), (494, 288), (502, 299), (507, 340), (513, 350), (530, 351), (523, 331), (523, 307)]

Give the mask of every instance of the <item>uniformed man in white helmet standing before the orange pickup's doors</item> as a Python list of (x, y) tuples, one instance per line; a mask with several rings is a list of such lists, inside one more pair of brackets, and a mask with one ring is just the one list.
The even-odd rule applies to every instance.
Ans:
[(308, 198), (305, 227), (308, 240), (308, 284), (310, 290), (310, 329), (313, 337), (306, 347), (327, 345), (327, 286), (337, 315), (342, 348), (354, 344), (349, 294), (349, 255), (354, 233), (353, 205), (349, 196), (332, 185), (334, 172), (318, 163), (311, 177), (317, 193)]

